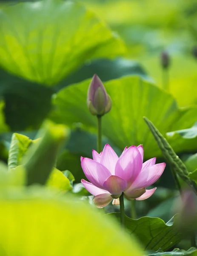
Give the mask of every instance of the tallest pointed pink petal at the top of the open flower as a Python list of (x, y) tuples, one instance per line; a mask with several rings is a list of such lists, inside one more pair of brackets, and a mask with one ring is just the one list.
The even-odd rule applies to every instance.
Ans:
[(115, 166), (118, 160), (118, 156), (114, 149), (110, 145), (106, 144), (101, 156), (100, 163), (103, 164), (112, 175), (115, 174)]

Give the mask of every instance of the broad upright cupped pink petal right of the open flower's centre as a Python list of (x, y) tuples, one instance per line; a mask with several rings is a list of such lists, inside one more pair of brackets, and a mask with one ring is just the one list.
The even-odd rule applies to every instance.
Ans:
[(117, 161), (115, 175), (133, 182), (142, 169), (142, 157), (136, 146), (129, 147)]

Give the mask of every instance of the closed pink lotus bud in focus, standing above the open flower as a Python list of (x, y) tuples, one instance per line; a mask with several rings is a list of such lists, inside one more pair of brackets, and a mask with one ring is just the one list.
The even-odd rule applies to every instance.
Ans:
[(111, 109), (111, 98), (97, 75), (91, 80), (87, 104), (92, 115), (103, 116)]

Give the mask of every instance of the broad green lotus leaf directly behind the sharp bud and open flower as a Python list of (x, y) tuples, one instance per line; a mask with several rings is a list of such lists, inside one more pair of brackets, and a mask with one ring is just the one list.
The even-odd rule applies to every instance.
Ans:
[[(97, 118), (89, 113), (86, 104), (90, 80), (60, 90), (54, 97), (51, 119), (72, 125), (82, 122), (84, 128), (97, 127)], [(197, 121), (197, 108), (179, 109), (171, 95), (135, 76), (104, 83), (112, 99), (112, 108), (103, 116), (103, 135), (121, 150), (127, 145), (143, 144), (145, 158), (160, 156), (161, 152), (143, 121), (147, 116), (165, 134), (168, 131), (190, 128)], [(178, 145), (178, 142), (177, 142)], [(176, 152), (187, 148), (174, 148)]]

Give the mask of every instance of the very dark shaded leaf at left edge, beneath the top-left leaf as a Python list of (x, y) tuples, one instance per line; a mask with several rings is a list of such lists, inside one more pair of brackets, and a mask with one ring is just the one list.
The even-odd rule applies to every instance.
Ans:
[(0, 70), (0, 96), (5, 101), (6, 123), (12, 131), (37, 129), (51, 108), (53, 88)]

